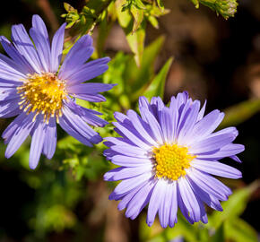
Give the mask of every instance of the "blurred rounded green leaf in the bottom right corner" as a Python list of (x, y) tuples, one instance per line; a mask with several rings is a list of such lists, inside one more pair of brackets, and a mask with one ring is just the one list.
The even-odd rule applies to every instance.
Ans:
[(245, 220), (229, 220), (225, 223), (225, 235), (236, 242), (257, 242), (257, 233)]

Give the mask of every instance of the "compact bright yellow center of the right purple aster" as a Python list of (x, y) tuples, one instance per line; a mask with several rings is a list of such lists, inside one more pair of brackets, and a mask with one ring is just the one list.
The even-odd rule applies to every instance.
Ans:
[(155, 159), (156, 177), (178, 180), (185, 176), (190, 162), (195, 159), (194, 155), (188, 154), (186, 147), (177, 144), (164, 144), (160, 148), (153, 149)]

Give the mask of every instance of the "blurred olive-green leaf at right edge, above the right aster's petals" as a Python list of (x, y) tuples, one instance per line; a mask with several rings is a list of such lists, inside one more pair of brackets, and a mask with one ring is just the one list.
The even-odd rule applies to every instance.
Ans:
[(220, 128), (243, 123), (259, 111), (260, 99), (247, 100), (238, 103), (237, 105), (224, 110), (225, 118), (222, 121)]

